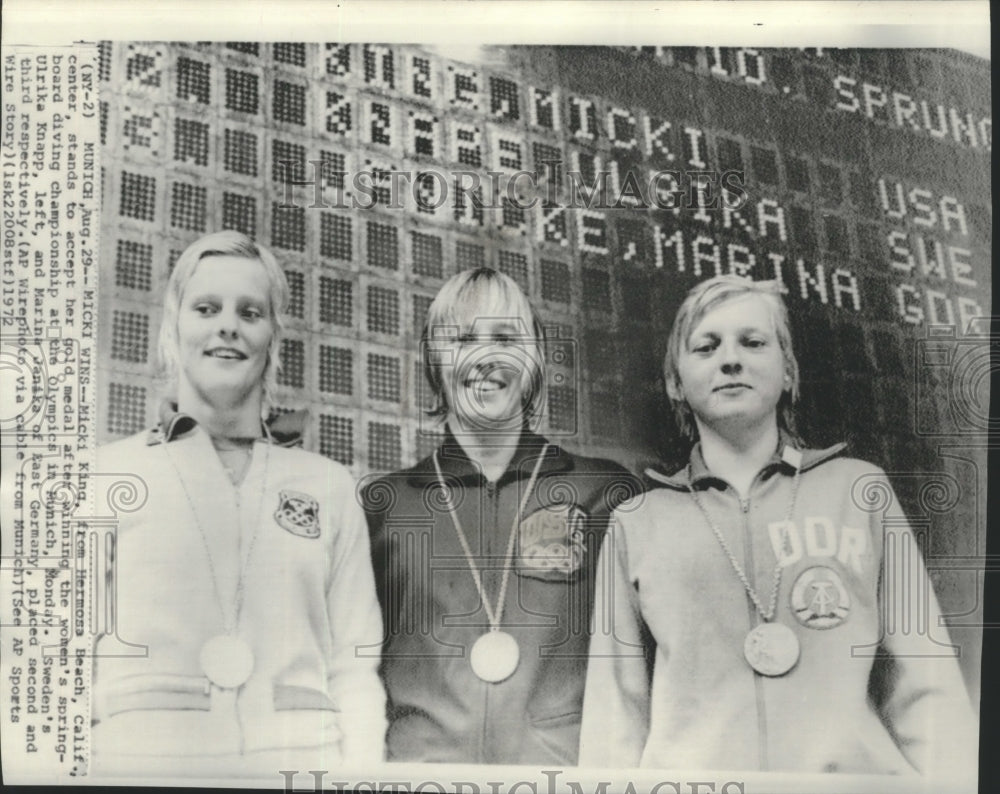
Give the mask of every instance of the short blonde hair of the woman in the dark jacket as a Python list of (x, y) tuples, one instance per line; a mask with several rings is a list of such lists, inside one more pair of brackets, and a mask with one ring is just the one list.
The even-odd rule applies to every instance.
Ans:
[(510, 317), (521, 321), (523, 342), (534, 345), (537, 355), (528, 357), (529, 366), (522, 373), (522, 409), (525, 417), (541, 408), (545, 390), (545, 331), (524, 292), (510, 276), (488, 267), (470, 268), (456, 273), (431, 302), (421, 336), (424, 374), (434, 395), (429, 416), (446, 417), (448, 405), (441, 377), (441, 360), (435, 348), (459, 329), (470, 314), (478, 318)]

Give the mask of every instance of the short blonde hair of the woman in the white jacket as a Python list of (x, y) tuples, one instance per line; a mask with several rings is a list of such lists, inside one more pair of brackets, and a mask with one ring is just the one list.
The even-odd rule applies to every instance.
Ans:
[(240, 232), (223, 231), (206, 234), (191, 243), (178, 257), (167, 281), (167, 291), (163, 299), (163, 321), (160, 323), (159, 339), (160, 365), (165, 377), (176, 383), (180, 369), (177, 319), (184, 289), (194, 275), (198, 263), (211, 256), (236, 256), (260, 262), (267, 273), (268, 312), (274, 333), (268, 346), (267, 363), (261, 381), (264, 389), (264, 405), (270, 405), (278, 381), (280, 365), (278, 350), (284, 330), (284, 315), (288, 310), (288, 282), (274, 254)]

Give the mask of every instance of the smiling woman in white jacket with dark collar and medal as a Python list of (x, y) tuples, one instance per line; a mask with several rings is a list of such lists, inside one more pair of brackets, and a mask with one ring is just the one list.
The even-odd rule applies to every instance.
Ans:
[(287, 301), (250, 239), (192, 244), (160, 334), (176, 399), (98, 452), (102, 471), (149, 488), (117, 538), (118, 627), (144, 654), (95, 649), (99, 773), (273, 776), (382, 757), (382, 624), (354, 483), (262, 421)]

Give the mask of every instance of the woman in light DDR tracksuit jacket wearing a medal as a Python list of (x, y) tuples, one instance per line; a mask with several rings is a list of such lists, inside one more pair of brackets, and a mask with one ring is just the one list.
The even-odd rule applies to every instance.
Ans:
[[(796, 437), (779, 290), (709, 279), (674, 321), (667, 394), (696, 443), (615, 513), (580, 762), (919, 771), (951, 789), (977, 736), (937, 601), (885, 473)], [(917, 597), (933, 638), (902, 628)]]

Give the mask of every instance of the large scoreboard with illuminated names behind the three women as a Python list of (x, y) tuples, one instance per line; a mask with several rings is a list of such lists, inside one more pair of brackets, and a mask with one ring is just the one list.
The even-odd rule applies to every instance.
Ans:
[[(170, 268), (226, 228), (288, 276), (276, 410), (308, 409), (306, 446), (357, 476), (436, 443), (420, 331), (444, 280), (474, 266), (539, 309), (541, 429), (569, 448), (633, 468), (682, 452), (667, 332), (693, 284), (737, 273), (784, 285), (807, 441), (848, 439), (889, 470), (937, 466), (922, 439), (961, 433), (962, 416), (951, 365), (921, 346), (961, 353), (991, 311), (988, 62), (716, 47), (462, 58), (101, 45), (100, 440), (155, 421)], [(963, 405), (985, 411), (970, 388)]]

